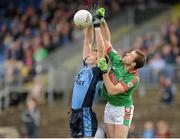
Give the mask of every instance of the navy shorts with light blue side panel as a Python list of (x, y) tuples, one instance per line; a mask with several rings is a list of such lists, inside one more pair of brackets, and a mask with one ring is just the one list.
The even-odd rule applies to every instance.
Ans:
[(96, 114), (91, 108), (72, 110), (70, 116), (71, 137), (94, 137), (97, 130)]

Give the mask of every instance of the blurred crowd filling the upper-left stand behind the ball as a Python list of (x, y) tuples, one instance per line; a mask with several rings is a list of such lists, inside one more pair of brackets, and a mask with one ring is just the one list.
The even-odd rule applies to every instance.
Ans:
[[(78, 9), (93, 9), (93, 0), (1, 0), (0, 1), (0, 81), (16, 83), (23, 75), (32, 80), (35, 65), (58, 47), (73, 41), (72, 22)], [(117, 1), (99, 1), (107, 17), (117, 13)]]

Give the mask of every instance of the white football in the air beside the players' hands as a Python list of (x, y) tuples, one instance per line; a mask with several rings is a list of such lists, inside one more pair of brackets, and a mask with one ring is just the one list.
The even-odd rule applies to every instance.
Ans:
[(74, 24), (80, 29), (86, 28), (92, 24), (92, 15), (87, 10), (79, 10), (74, 15)]

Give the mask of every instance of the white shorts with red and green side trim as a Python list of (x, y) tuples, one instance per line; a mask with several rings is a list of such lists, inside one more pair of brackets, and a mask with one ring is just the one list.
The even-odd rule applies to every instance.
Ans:
[(121, 124), (130, 127), (134, 112), (134, 105), (113, 106), (109, 103), (106, 104), (104, 111), (104, 123), (107, 124)]

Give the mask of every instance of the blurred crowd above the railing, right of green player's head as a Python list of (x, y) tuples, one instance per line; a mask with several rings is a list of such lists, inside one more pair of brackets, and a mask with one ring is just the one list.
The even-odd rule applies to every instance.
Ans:
[(139, 48), (147, 55), (152, 69), (161, 71), (166, 64), (180, 64), (180, 18), (171, 22), (169, 18), (162, 23), (161, 31), (154, 35), (137, 37), (134, 48)]

